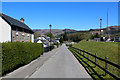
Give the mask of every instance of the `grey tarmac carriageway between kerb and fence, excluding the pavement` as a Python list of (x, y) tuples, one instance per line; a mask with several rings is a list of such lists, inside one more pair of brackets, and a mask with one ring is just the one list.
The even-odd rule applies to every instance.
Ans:
[(91, 78), (74, 55), (62, 45), (30, 78)]

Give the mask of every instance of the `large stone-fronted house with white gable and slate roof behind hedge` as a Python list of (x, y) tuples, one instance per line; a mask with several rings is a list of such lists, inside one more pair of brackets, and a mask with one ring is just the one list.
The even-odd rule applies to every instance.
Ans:
[(0, 42), (34, 42), (34, 32), (24, 23), (0, 13)]

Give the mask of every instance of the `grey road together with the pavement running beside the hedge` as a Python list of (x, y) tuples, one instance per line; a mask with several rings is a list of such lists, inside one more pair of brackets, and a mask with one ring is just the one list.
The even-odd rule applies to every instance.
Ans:
[(54, 49), (5, 78), (91, 78), (65, 45)]

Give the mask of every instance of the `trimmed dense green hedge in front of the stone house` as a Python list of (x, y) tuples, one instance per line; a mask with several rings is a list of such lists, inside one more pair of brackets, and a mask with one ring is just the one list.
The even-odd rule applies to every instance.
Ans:
[(2, 75), (30, 63), (43, 53), (43, 44), (22, 42), (2, 43)]

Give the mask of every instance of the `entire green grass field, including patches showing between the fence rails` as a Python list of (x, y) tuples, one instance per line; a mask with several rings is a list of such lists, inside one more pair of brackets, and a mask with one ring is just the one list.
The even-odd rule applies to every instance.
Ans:
[[(93, 42), (93, 41), (81, 41), (78, 44), (74, 44), (73, 47), (85, 50), (87, 52), (90, 52), (91, 54), (97, 53), (98, 57), (101, 57), (105, 59), (105, 57), (108, 57), (108, 60), (119, 64), (119, 42)], [(72, 50), (71, 50), (72, 51)], [(74, 51), (72, 51), (74, 53)], [(85, 55), (87, 57), (87, 55)], [(94, 57), (90, 57), (91, 60), (95, 61)], [(87, 60), (86, 60), (87, 61)], [(94, 66), (93, 63), (87, 62), (91, 66)], [(105, 62), (102, 62), (100, 60), (97, 60), (97, 64), (101, 65), (102, 67), (105, 67)], [(103, 75), (105, 72), (102, 71), (100, 68), (96, 67), (94, 68), (96, 72)], [(119, 70), (111, 65), (108, 65), (108, 71), (112, 72), (113, 74), (119, 76)], [(109, 75), (103, 76), (103, 78), (112, 78)]]

